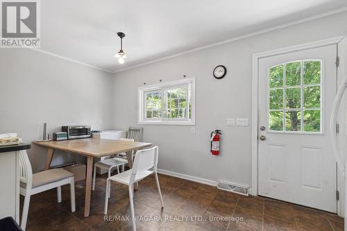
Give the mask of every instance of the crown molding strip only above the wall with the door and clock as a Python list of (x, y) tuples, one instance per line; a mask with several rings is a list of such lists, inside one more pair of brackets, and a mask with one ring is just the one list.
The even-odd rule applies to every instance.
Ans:
[(237, 37), (232, 37), (228, 40), (223, 40), (221, 42), (215, 42), (213, 44), (208, 44), (208, 45), (205, 45), (205, 46), (199, 46), (199, 47), (196, 47), (194, 49), (190, 49), (188, 51), (183, 51), (183, 52), (180, 52), (180, 53), (176, 53), (176, 54), (173, 54), (173, 55), (168, 55), (168, 56), (165, 56), (163, 58), (158, 58), (158, 59), (155, 59), (155, 60), (151, 60), (149, 62), (143, 62), (143, 63), (140, 63), (139, 65), (133, 65), (133, 66), (130, 66), (130, 67), (126, 67), (124, 69), (119, 69), (117, 71), (113, 71), (113, 74), (117, 74), (121, 71), (126, 71), (126, 70), (129, 70), (129, 69), (134, 69), (136, 67), (142, 67), (142, 66), (145, 66), (145, 65), (150, 65), (152, 63), (155, 63), (155, 62), (160, 62), (162, 60), (168, 60), (170, 58), (175, 58), (177, 56), (180, 56), (180, 55), (185, 55), (187, 53), (192, 53), (192, 52), (196, 52), (196, 51), (201, 51), (203, 49), (208, 49), (210, 47), (213, 47), (213, 46), (219, 46), (219, 45), (222, 45), (222, 44), (227, 44), (227, 43), (230, 43), (230, 42), (234, 42), (234, 41), (237, 41), (237, 40), (242, 40), (242, 39), (245, 39), (247, 37), (253, 37), (255, 35), (261, 35), (263, 33), (268, 33), (270, 31), (276, 31), (278, 29), (281, 29), (281, 28), (286, 28), (286, 27), (289, 27), (289, 26), (294, 26), (294, 25), (297, 25), (297, 24), (302, 24), (304, 22), (310, 22), (310, 21), (313, 21), (315, 19), (320, 19), (322, 17), (327, 17), (327, 16), (330, 16), (330, 15), (336, 15), (340, 12), (344, 12), (344, 11), (347, 11), (347, 7), (344, 7), (344, 8), (339, 8), (337, 10), (330, 10), (328, 12), (324, 12), (324, 13), (321, 13), (319, 15), (314, 15), (314, 16), (311, 16), (311, 17), (307, 17), (305, 19), (299, 19), (299, 20), (296, 20), (296, 21), (293, 21), (293, 22), (288, 22), (286, 24), (280, 24), (278, 26), (273, 26), (273, 27), (270, 27), (270, 28), (266, 28), (264, 30), (260, 30), (260, 31), (255, 31), (253, 33), (248, 33), (248, 34), (245, 34), (245, 35), (240, 35), (240, 36), (237, 36)]

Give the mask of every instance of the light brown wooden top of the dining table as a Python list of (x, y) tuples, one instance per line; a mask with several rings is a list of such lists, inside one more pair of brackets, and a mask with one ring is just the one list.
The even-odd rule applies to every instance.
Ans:
[(92, 157), (103, 157), (105, 155), (114, 155), (132, 150), (152, 146), (151, 143), (144, 142), (126, 142), (113, 139), (68, 139), (52, 140), (49, 142), (33, 142), (39, 146), (53, 148), (56, 150), (66, 151), (67, 153), (76, 153)]

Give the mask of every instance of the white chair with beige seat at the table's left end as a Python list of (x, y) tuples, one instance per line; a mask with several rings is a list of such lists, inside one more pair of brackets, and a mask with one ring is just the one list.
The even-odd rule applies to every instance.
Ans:
[(19, 153), (20, 185), (19, 193), (24, 196), (21, 228), (25, 230), (30, 198), (33, 194), (57, 188), (58, 203), (62, 202), (62, 185), (70, 185), (71, 212), (76, 211), (74, 174), (64, 169), (49, 169), (33, 173), (26, 151)]

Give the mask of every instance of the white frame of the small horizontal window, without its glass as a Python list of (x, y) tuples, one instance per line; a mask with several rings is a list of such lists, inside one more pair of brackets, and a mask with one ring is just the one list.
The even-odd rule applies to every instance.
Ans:
[[(145, 85), (138, 88), (138, 124), (158, 124), (158, 125), (195, 125), (195, 78), (185, 78), (183, 80), (175, 80), (167, 83), (158, 83), (154, 85)], [(181, 85), (190, 85), (190, 103), (191, 103), (191, 114), (190, 119), (145, 119), (145, 92), (158, 90), (158, 89), (169, 89), (179, 87)], [(188, 92), (189, 94), (189, 92)], [(162, 101), (163, 101), (162, 95)], [(189, 103), (187, 102), (187, 105)], [(162, 105), (163, 107), (164, 105)], [(162, 110), (163, 112), (163, 110)], [(187, 112), (189, 114), (189, 111)], [(163, 116), (163, 114), (162, 114)]]

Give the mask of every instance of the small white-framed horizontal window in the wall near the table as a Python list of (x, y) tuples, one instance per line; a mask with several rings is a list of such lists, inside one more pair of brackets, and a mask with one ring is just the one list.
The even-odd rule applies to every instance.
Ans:
[(139, 87), (139, 123), (192, 125), (194, 99), (194, 78)]

